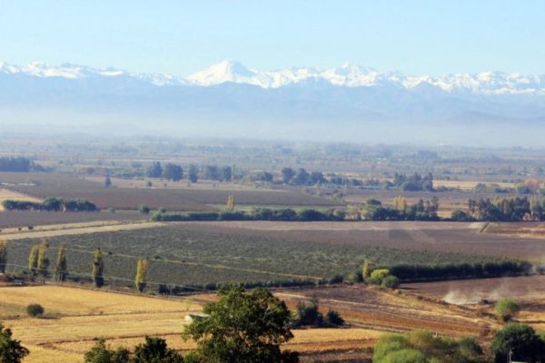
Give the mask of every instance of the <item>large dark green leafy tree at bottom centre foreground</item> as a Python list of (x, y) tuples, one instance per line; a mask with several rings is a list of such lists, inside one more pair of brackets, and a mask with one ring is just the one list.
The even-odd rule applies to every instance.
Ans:
[(208, 316), (188, 325), (183, 338), (197, 342), (187, 359), (196, 362), (297, 362), (297, 353), (280, 346), (293, 338), (291, 315), (268, 289), (246, 292), (243, 285), (228, 285), (220, 299), (204, 306)]

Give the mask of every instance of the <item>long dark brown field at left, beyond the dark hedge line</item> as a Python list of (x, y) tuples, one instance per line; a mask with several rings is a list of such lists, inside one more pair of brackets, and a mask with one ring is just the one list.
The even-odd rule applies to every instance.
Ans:
[[(29, 179), (33, 183), (17, 184), (17, 181)], [(0, 181), (11, 182), (8, 188), (13, 191), (46, 198), (84, 198), (93, 201), (99, 208), (118, 210), (136, 210), (141, 204), (152, 209), (159, 207), (170, 211), (211, 211), (214, 205), (224, 205), (233, 195), (237, 205), (271, 206), (319, 206), (330, 207), (339, 203), (298, 191), (275, 190), (226, 190), (200, 188), (104, 188), (97, 182), (91, 182), (71, 175), (31, 173), (0, 173)]]

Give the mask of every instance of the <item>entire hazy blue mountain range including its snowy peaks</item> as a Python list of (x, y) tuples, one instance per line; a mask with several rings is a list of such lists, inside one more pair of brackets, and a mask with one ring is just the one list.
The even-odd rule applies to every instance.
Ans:
[(83, 124), (85, 132), (541, 144), (545, 75), (414, 76), (354, 64), (258, 71), (223, 61), (182, 77), (0, 63), (0, 133)]

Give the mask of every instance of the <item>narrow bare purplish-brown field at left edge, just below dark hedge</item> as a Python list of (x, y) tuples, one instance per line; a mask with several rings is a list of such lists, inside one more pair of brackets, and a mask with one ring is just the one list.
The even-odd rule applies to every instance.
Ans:
[(143, 220), (144, 216), (137, 211), (4, 211), (0, 214), (0, 229), (92, 221)]

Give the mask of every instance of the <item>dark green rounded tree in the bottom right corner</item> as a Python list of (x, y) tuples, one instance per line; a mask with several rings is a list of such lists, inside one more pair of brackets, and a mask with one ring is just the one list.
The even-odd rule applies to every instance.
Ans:
[(540, 362), (545, 359), (545, 341), (528, 325), (510, 323), (494, 334), (490, 351), (495, 363), (518, 361)]

